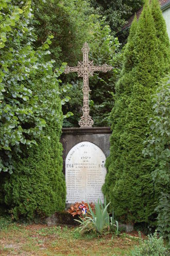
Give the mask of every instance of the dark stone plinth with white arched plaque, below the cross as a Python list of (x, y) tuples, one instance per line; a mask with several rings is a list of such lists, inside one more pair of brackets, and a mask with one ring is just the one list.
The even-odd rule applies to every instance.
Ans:
[(63, 172), (66, 207), (75, 202), (104, 200), (105, 161), (109, 155), (109, 127), (63, 128)]

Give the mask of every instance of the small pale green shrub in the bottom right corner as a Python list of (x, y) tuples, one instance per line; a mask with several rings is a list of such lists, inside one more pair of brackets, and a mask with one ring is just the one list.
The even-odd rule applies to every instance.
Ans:
[(157, 232), (148, 235), (148, 239), (140, 239), (140, 245), (135, 246), (130, 256), (168, 256), (168, 250), (164, 246), (163, 238), (158, 238)]

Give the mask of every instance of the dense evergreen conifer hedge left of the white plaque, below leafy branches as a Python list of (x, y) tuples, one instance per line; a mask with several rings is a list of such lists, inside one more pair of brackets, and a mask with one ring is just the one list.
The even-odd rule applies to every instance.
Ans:
[(28, 219), (37, 215), (49, 216), (65, 207), (66, 189), (62, 173), (62, 146), (59, 142), (61, 100), (56, 93), (56, 81), (48, 82), (42, 86), (40, 80), (36, 81), (34, 91), (43, 95), (39, 104), (48, 101), (57, 116), (53, 120), (46, 120), (44, 133), (37, 139), (37, 145), (23, 150), (21, 158), (15, 159), (15, 172), (5, 180), (5, 203), (16, 219), (21, 216)]

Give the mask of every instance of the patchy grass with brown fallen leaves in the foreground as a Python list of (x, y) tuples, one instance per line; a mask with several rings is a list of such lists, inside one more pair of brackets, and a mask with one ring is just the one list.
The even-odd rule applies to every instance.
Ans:
[[(3, 222), (0, 220), (0, 224)], [(138, 244), (126, 235), (81, 236), (73, 227), (4, 223), (0, 226), (1, 256), (126, 256)]]

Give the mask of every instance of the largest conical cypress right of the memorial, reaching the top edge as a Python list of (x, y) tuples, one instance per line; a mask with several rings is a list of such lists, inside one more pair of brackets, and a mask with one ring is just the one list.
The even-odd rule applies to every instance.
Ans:
[[(148, 119), (153, 115), (151, 95), (163, 75), (160, 66), (162, 53), (148, 1), (145, 2), (133, 40), (134, 65), (131, 81), (128, 81), (130, 93), (124, 91), (128, 107), (125, 104), (126, 114), (123, 114), (125, 121), (121, 134), (117, 136), (116, 126), (112, 126), (111, 154), (107, 161), (108, 174), (104, 193), (112, 202), (116, 216), (134, 223), (149, 221), (157, 198), (150, 175), (155, 161), (142, 155), (143, 141), (149, 132)], [(117, 98), (122, 95), (123, 93)], [(115, 105), (119, 105), (117, 98)], [(116, 109), (113, 109), (112, 117), (115, 113)], [(121, 112), (119, 115), (121, 116)], [(115, 122), (113, 118), (112, 121)], [(118, 147), (115, 147), (117, 145), (113, 137), (115, 141), (118, 139)]]

